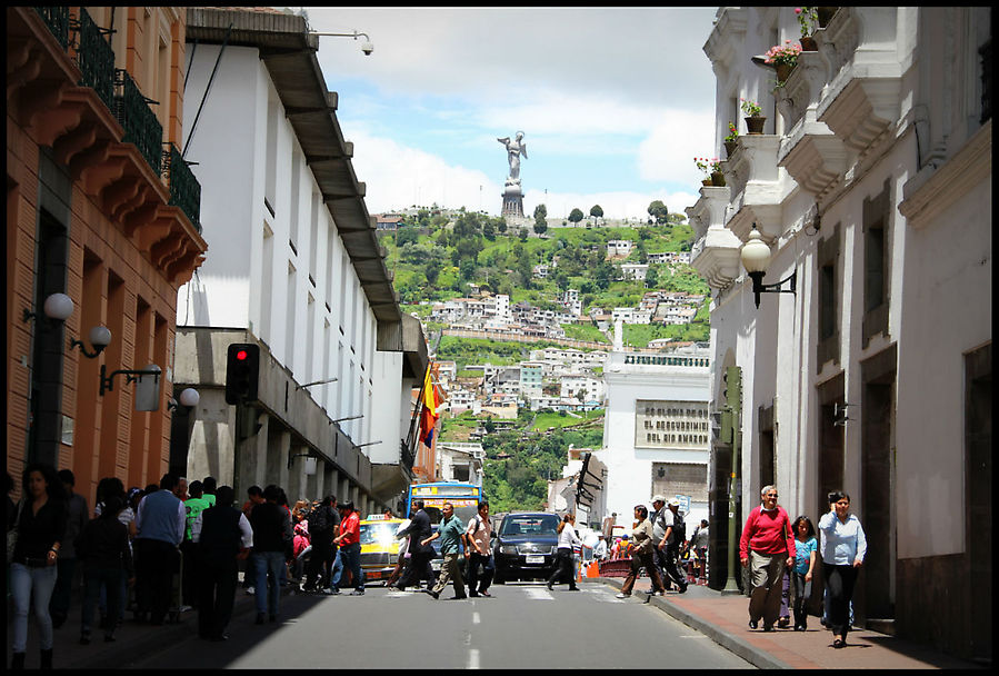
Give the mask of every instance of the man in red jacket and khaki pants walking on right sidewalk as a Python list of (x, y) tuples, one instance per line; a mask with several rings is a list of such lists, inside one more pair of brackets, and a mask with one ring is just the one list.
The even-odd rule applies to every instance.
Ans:
[(772, 632), (785, 566), (795, 564), (795, 536), (788, 513), (777, 504), (777, 487), (765, 486), (760, 496), (762, 504), (749, 513), (742, 528), (739, 560), (743, 568), (750, 566), (749, 626), (756, 629), (762, 617), (763, 632)]

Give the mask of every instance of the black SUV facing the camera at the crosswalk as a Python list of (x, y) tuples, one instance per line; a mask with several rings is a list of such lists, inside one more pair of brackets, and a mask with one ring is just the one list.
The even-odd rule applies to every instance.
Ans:
[(545, 579), (555, 573), (559, 520), (559, 515), (548, 511), (515, 511), (505, 516), (492, 544), (496, 583)]

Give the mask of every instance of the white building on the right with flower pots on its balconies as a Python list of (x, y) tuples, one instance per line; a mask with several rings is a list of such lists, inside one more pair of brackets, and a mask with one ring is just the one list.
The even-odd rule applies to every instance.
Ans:
[[(845, 489), (868, 541), (855, 624), (989, 660), (977, 581), (992, 579), (990, 12), (838, 8), (775, 89), (751, 58), (797, 39), (792, 8), (719, 9), (705, 46), (717, 148), (729, 121), (742, 135), (727, 186), (688, 209), (692, 265), (713, 291), (712, 410), (722, 376), (741, 371), (739, 525), (766, 484), (813, 517)], [(746, 133), (742, 98), (762, 106), (765, 133)], [(765, 284), (797, 281), (758, 308), (740, 265), (753, 226), (772, 256)], [(728, 476), (731, 454), (719, 440), (712, 475)], [(712, 586), (723, 485), (717, 498)]]

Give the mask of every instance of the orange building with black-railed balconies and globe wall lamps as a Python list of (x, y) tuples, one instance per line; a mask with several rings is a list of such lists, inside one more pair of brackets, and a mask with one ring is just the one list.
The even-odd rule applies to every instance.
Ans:
[[(32, 460), (71, 469), (91, 506), (102, 477), (146, 486), (167, 470), (177, 289), (207, 249), (180, 148), (184, 18), (7, 9), (7, 469), (18, 493)], [(43, 309), (57, 294), (72, 301), (64, 320)], [(100, 326), (102, 350), (90, 340)], [(138, 384), (116, 371), (147, 365), (161, 369), (156, 410), (137, 411)]]

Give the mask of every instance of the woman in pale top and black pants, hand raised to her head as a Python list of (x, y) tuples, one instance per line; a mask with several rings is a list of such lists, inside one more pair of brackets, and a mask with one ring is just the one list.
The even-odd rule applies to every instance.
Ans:
[(833, 648), (847, 645), (850, 599), (857, 574), (867, 554), (867, 538), (860, 520), (850, 514), (850, 496), (841, 490), (829, 494), (829, 511), (819, 519), (822, 573), (829, 593), (829, 625)]

